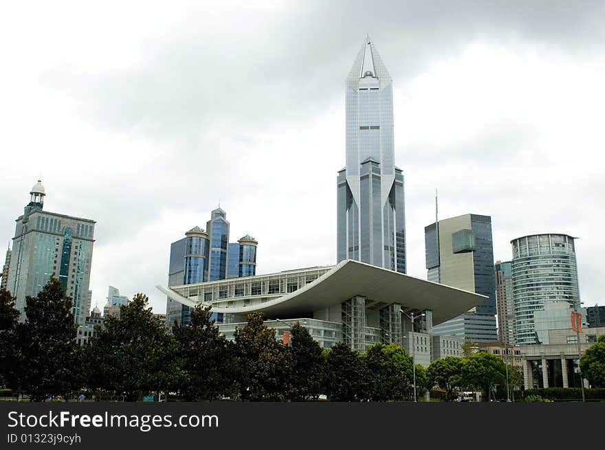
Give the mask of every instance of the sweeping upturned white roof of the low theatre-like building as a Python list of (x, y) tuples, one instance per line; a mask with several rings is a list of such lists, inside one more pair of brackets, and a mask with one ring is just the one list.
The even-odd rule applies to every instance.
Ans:
[[(210, 306), (204, 302), (190, 300), (172, 289), (156, 287), (170, 299), (186, 306), (195, 307), (198, 304)], [(314, 282), (274, 300), (241, 307), (213, 306), (212, 311), (216, 313), (262, 311), (267, 317), (281, 315), (297, 317), (300, 314), (340, 304), (355, 295), (366, 297), (368, 308), (373, 305), (382, 307), (398, 303), (407, 310), (430, 310), (435, 325), (465, 313), (487, 298), (484, 295), (421, 280), (363, 262), (344, 260)]]

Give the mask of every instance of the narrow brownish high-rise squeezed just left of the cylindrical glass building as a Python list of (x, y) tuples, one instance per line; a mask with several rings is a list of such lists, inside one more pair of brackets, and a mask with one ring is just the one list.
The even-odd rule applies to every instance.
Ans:
[(498, 311), (498, 340), (515, 344), (515, 304), (513, 274), (510, 261), (496, 261), (496, 306)]

